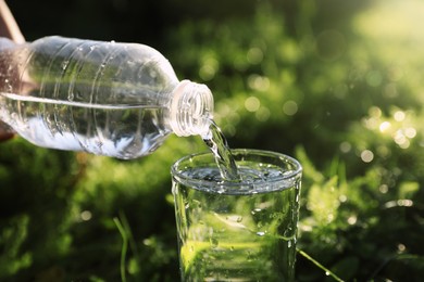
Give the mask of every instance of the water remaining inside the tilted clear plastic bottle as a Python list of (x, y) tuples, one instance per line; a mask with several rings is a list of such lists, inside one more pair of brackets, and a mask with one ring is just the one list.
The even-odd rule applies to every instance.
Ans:
[(3, 99), (0, 119), (39, 146), (129, 159), (154, 151), (169, 132), (162, 120), (165, 107), (0, 93)]

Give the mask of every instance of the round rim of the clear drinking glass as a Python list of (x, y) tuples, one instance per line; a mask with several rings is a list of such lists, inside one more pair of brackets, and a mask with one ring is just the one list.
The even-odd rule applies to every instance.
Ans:
[[(248, 155), (263, 156), (263, 157), (271, 157), (271, 158), (279, 159), (284, 163), (290, 164), (294, 167), (294, 169), (288, 170), (287, 174), (283, 174), (283, 175), (275, 176), (273, 178), (269, 178), (269, 179), (266, 179), (266, 181), (265, 180), (255, 181), (254, 183), (246, 183), (242, 181), (241, 182), (238, 182), (238, 181), (216, 182), (213, 180), (197, 179), (197, 178), (187, 177), (186, 175), (184, 175), (185, 170), (179, 168), (179, 166), (184, 162), (188, 162), (189, 159), (192, 159), (192, 158), (213, 156), (212, 152), (207, 151), (207, 152), (189, 154), (189, 155), (183, 156), (179, 159), (177, 159), (171, 166), (171, 175), (172, 175), (173, 181), (176, 180), (178, 183), (190, 185), (190, 187), (196, 188), (196, 189), (216, 188), (216, 187), (221, 187), (221, 188), (232, 188), (232, 187), (260, 188), (260, 187), (264, 187), (264, 185), (278, 184), (280, 182), (294, 180), (294, 179), (301, 177), (302, 166), (300, 165), (300, 163), (296, 158), (294, 158), (291, 156), (288, 156), (288, 155), (285, 155), (285, 154), (282, 154), (278, 152), (266, 151), (266, 150), (257, 150), (257, 149), (233, 149), (230, 151), (236, 156), (241, 154), (241, 155), (246, 155), (246, 156), (248, 156)], [(244, 159), (239, 159), (239, 161), (236, 159), (236, 163), (240, 162), (240, 161), (244, 161)], [(275, 189), (275, 190), (282, 190), (282, 189), (284, 189), (284, 188), (279, 188), (279, 189)], [(275, 191), (274, 189), (272, 189), (272, 190)]]

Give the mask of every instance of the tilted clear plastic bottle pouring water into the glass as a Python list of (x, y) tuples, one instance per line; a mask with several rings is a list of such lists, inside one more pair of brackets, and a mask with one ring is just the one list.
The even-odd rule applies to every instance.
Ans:
[(172, 132), (208, 133), (212, 113), (209, 88), (150, 47), (0, 39), (0, 119), (36, 145), (136, 158)]

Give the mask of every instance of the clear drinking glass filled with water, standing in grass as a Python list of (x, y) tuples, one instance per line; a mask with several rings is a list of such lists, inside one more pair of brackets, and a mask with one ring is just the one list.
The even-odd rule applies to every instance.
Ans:
[(292, 281), (301, 165), (269, 151), (232, 150), (240, 180), (212, 153), (172, 166), (183, 281)]

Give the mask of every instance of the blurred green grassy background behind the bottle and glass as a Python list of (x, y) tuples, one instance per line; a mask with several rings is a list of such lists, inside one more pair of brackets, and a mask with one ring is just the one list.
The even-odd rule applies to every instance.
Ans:
[[(28, 41), (149, 44), (207, 84), (232, 148), (303, 165), (298, 248), (345, 281), (424, 274), (424, 2), (7, 1)], [(0, 144), (0, 281), (177, 281), (171, 137), (117, 161)], [(120, 228), (121, 229), (120, 229)], [(297, 281), (334, 281), (298, 254)]]

